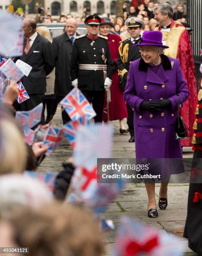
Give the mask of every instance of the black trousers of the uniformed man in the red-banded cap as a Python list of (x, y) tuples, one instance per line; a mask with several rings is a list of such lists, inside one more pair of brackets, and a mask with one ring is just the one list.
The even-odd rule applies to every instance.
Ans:
[(92, 103), (93, 109), (95, 110), (95, 113), (97, 114), (94, 118), (95, 123), (102, 122), (105, 91), (82, 90), (82, 93), (87, 98), (87, 100), (90, 103)]

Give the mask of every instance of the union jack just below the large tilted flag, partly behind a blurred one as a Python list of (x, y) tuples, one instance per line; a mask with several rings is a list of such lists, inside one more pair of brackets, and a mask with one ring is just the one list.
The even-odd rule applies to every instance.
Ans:
[(62, 127), (64, 135), (68, 138), (72, 148), (75, 147), (75, 138), (77, 135), (79, 125), (90, 125), (90, 120), (88, 120), (87, 117), (84, 115), (80, 117), (78, 120), (70, 121), (64, 124)]

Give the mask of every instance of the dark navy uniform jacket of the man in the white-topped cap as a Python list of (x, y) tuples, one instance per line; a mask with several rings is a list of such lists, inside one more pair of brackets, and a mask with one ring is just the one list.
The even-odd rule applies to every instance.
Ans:
[[(133, 46), (130, 38), (126, 39), (125, 41), (121, 41), (120, 43), (123, 43), (121, 49), (119, 50), (118, 58), (117, 58), (117, 64), (118, 64), (118, 70), (121, 72), (123, 69), (126, 69), (127, 72), (122, 77), (122, 87), (125, 89), (126, 82), (127, 82), (127, 76), (130, 69), (130, 62), (135, 61), (136, 59), (141, 58), (140, 49), (138, 46)], [(120, 57), (120, 52), (122, 54), (124, 46), (128, 44), (128, 59), (126, 62), (123, 62)]]

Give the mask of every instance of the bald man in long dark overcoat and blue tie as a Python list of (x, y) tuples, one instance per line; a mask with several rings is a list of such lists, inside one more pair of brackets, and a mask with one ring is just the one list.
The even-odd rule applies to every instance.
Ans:
[[(62, 100), (72, 89), (70, 79), (70, 63), (72, 57), (72, 48), (76, 36), (78, 26), (77, 20), (69, 18), (66, 20), (66, 27), (64, 34), (56, 36), (53, 39), (52, 45), (55, 55), (55, 88), (58, 102)], [(63, 123), (67, 123), (70, 118), (66, 111), (62, 112)]]

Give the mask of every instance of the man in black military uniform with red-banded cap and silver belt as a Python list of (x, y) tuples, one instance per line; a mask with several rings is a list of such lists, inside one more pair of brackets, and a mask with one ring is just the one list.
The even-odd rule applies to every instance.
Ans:
[(87, 35), (77, 36), (72, 51), (72, 86), (78, 87), (96, 112), (95, 122), (102, 122), (105, 90), (112, 84), (113, 65), (107, 37), (97, 35), (101, 19), (89, 15), (84, 23)]

